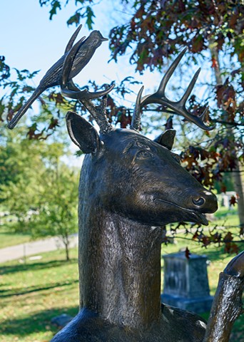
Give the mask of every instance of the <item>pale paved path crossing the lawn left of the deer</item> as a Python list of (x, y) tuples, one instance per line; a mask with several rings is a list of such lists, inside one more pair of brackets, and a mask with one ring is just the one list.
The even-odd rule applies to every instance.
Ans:
[[(70, 247), (76, 247), (77, 245), (78, 236), (75, 234), (71, 237)], [(63, 248), (61, 240), (57, 237), (51, 237), (50, 239), (43, 239), (34, 242), (26, 242), (25, 244), (17, 244), (16, 246), (0, 249), (0, 263), (14, 259), (24, 259), (30, 255), (55, 251), (56, 249)]]

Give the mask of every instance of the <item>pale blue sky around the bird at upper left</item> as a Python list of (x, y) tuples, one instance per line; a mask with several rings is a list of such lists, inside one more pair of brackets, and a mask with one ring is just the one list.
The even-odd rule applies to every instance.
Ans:
[[(98, 29), (105, 37), (108, 37), (110, 29), (118, 24), (118, 20), (126, 20), (126, 16), (128, 17), (124, 9), (118, 9), (117, 4), (116, 8), (114, 6), (113, 0), (102, 0), (94, 7), (96, 18), (93, 29)], [(34, 79), (33, 86), (38, 86), (42, 76), (62, 56), (66, 43), (76, 29), (75, 26), (68, 27), (66, 24), (75, 10), (74, 5), (68, 5), (50, 21), (49, 8), (41, 7), (39, 0), (1, 0), (0, 56), (5, 56), (6, 63), (19, 70), (24, 68), (30, 71), (41, 70)], [(78, 37), (88, 34), (89, 31), (84, 23)], [(76, 76), (76, 83), (84, 86), (89, 79), (98, 84), (111, 81), (118, 83), (126, 76), (135, 76), (134, 67), (128, 63), (129, 53), (119, 58), (118, 63), (113, 61), (108, 63), (109, 59), (108, 42), (104, 42), (88, 66), (79, 76)], [(152, 85), (156, 87), (159, 78), (157, 72), (147, 71), (144, 76), (136, 73), (136, 79), (143, 81), (146, 90), (152, 88)], [(139, 89), (140, 86), (138, 85), (137, 88)]]

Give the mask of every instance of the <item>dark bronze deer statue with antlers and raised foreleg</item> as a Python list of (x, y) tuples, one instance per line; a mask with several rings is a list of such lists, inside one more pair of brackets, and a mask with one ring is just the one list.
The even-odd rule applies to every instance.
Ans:
[[(171, 152), (174, 130), (166, 130), (156, 140), (138, 132), (141, 108), (148, 103), (167, 105), (210, 130), (204, 123), (205, 113), (196, 117), (185, 108), (199, 71), (181, 100), (175, 103), (166, 98), (166, 85), (183, 51), (155, 94), (142, 98), (141, 88), (131, 128), (113, 128), (106, 118), (106, 96), (101, 105), (93, 105), (91, 98), (96, 95), (88, 98), (73, 84), (70, 73), (81, 48), (76, 46), (66, 54), (61, 90), (81, 101), (100, 126), (100, 133), (80, 115), (66, 115), (71, 140), (86, 153), (78, 199), (81, 310), (51, 341), (227, 342), (230, 329), (226, 333), (220, 323), (227, 315), (218, 305), (228, 295), (216, 299), (207, 331), (199, 316), (161, 304), (162, 226), (179, 221), (208, 224), (204, 214), (215, 212), (216, 197), (185, 171), (178, 155)], [(238, 279), (235, 298), (240, 301), (243, 254), (228, 265), (225, 275)], [(227, 324), (228, 319), (225, 321)]]

